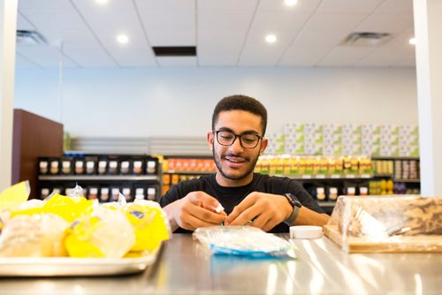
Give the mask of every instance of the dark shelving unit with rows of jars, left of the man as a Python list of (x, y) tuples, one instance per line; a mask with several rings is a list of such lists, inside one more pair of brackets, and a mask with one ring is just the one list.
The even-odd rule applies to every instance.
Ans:
[[(53, 168), (52, 163), (55, 163), (57, 170), (50, 170)], [(158, 159), (149, 155), (74, 155), (40, 158), (39, 167), (40, 199), (54, 191), (68, 195), (75, 185), (82, 187), (83, 195), (88, 199), (100, 201), (118, 200), (119, 193), (128, 201), (159, 200), (161, 196), (161, 169)], [(65, 174), (61, 174), (63, 172)], [(75, 174), (76, 172), (81, 174)]]

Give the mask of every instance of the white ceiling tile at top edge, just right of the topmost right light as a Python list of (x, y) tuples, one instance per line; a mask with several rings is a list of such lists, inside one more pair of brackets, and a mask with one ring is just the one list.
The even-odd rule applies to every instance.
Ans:
[(319, 12), (370, 13), (384, 0), (323, 0)]

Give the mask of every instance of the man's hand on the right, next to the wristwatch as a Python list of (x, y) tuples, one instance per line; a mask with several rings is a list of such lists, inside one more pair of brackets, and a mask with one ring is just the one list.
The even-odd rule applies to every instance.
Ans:
[(225, 218), (225, 225), (252, 225), (270, 231), (292, 214), (286, 197), (271, 193), (250, 193)]

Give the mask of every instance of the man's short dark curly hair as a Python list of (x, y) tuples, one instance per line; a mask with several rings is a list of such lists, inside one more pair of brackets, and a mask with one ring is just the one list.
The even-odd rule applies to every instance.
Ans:
[(213, 110), (212, 130), (215, 130), (219, 113), (227, 110), (245, 110), (261, 117), (261, 127), (263, 128), (262, 136), (264, 136), (265, 129), (267, 128), (267, 110), (263, 106), (263, 103), (247, 95), (226, 96), (217, 103), (215, 110)]

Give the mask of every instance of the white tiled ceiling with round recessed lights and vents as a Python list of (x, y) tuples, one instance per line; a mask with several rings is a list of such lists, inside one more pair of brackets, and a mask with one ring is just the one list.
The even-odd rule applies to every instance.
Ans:
[[(17, 29), (48, 45), (18, 45), (18, 67), (415, 66), (413, 0), (19, 0)], [(339, 45), (353, 32), (382, 45)], [(116, 42), (118, 34), (129, 42)], [(278, 41), (269, 44), (266, 34)], [(155, 57), (152, 46), (196, 46)]]

